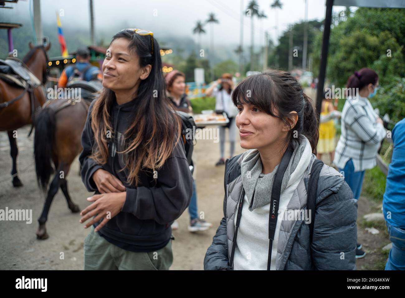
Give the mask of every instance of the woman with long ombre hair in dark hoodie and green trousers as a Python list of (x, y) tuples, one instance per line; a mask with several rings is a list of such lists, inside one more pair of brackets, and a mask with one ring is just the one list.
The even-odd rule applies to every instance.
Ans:
[(99, 193), (81, 212), (85, 228), (93, 226), (84, 267), (167, 270), (171, 224), (193, 186), (153, 33), (115, 34), (102, 71), (104, 88), (90, 106), (79, 157), (87, 190)]

